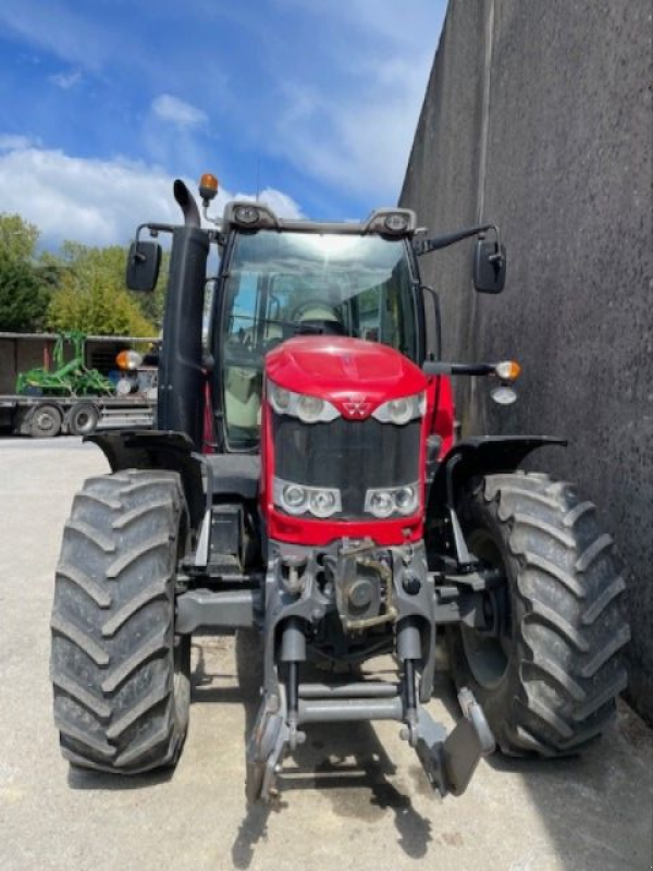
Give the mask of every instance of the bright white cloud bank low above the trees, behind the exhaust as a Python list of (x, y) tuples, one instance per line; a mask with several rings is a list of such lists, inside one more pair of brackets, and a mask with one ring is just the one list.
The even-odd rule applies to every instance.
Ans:
[[(87, 245), (125, 244), (145, 221), (180, 223), (172, 196), (173, 177), (162, 169), (125, 159), (93, 160), (36, 148), (21, 137), (0, 136), (0, 212), (36, 224), (48, 247), (63, 240)], [(192, 191), (195, 183), (186, 181)], [(239, 194), (239, 197), (251, 195)], [(221, 191), (211, 212), (232, 199)], [(274, 188), (262, 192), (280, 216), (300, 216), (297, 204)]]

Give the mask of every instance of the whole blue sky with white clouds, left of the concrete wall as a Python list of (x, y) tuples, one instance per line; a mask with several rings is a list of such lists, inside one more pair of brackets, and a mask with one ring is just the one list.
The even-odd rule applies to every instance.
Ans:
[[(0, 212), (124, 243), (170, 184), (349, 219), (396, 201), (445, 0), (1, 0)], [(221, 204), (220, 204), (221, 205)]]

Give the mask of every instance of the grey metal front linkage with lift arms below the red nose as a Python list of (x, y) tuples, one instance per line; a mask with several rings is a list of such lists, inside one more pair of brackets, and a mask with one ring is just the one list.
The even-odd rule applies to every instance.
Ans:
[[(433, 788), (442, 796), (464, 793), (481, 757), (494, 750), (494, 738), (468, 689), (458, 697), (464, 717), (448, 736), (424, 707), (433, 688), (435, 590), (423, 545), (378, 549), (371, 541), (344, 540), (322, 551), (271, 547), (275, 555), (264, 582), (262, 701), (247, 746), (248, 800), (275, 794), (286, 751), (306, 738), (300, 726), (373, 720), (404, 723), (401, 737), (416, 750)], [(300, 680), (308, 660), (329, 655), (324, 633), (333, 635), (334, 653), (345, 645), (345, 659), (354, 663), (357, 634), (384, 623), (396, 627), (398, 683)], [(318, 635), (319, 650), (311, 643)], [(380, 639), (379, 652), (384, 652), (393, 636)], [(337, 659), (342, 662), (342, 652)]]

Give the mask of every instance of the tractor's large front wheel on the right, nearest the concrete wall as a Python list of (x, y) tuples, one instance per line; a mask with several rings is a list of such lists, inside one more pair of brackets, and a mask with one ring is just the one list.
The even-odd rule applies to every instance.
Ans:
[(591, 502), (545, 475), (491, 475), (461, 507), (470, 551), (505, 580), (486, 594), (496, 628), (448, 633), (458, 688), (512, 756), (566, 756), (600, 735), (627, 683), (625, 582)]

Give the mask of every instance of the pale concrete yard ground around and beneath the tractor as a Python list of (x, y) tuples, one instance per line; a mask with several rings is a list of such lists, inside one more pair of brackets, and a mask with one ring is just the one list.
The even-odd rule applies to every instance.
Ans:
[[(626, 708), (582, 760), (493, 758), (440, 801), (394, 724), (315, 729), (278, 807), (246, 812), (246, 721), (231, 641), (197, 639), (173, 776), (70, 774), (48, 683), (61, 527), (93, 446), (0, 440), (0, 869), (616, 871), (653, 862), (653, 743)], [(451, 691), (434, 712), (451, 723)], [(210, 703), (209, 703), (210, 702)]]

